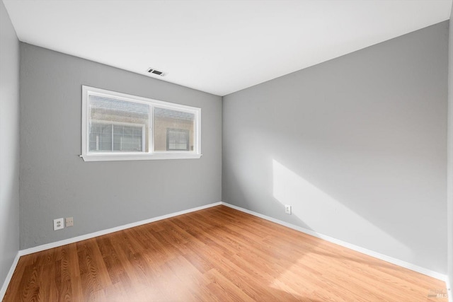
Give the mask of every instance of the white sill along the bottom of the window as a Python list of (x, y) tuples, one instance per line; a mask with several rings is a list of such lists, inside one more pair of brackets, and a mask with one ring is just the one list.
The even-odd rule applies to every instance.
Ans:
[(156, 159), (190, 159), (200, 158), (196, 153), (153, 153), (153, 154), (82, 154), (84, 161), (149, 161)]

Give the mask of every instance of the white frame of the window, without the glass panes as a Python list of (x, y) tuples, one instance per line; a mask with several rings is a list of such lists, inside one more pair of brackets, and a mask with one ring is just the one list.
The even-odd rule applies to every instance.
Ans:
[[(115, 100), (124, 100), (132, 103), (142, 103), (149, 105), (149, 152), (90, 152), (89, 147), (89, 106), (88, 100), (90, 95), (101, 96), (105, 98), (114, 98)], [(181, 112), (188, 112), (195, 115), (194, 133), (193, 133), (193, 151), (154, 151), (154, 108), (164, 108)], [(93, 122), (99, 122), (93, 120)], [(113, 122), (115, 123), (115, 122)], [(137, 161), (137, 160), (154, 160), (154, 159), (185, 159), (200, 158), (201, 153), (201, 109), (187, 105), (164, 102), (163, 100), (154, 100), (143, 98), (136, 95), (108, 91), (101, 88), (82, 86), (82, 125), (81, 125), (81, 158), (84, 161)], [(146, 141), (146, 140), (145, 140)]]

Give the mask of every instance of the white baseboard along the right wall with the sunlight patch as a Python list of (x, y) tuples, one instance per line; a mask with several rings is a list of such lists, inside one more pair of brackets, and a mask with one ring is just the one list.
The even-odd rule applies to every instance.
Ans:
[[(409, 263), (409, 262), (406, 262), (406, 261), (403, 261), (403, 260), (399, 260), (399, 259), (396, 259), (394, 257), (389, 257), (389, 256), (383, 255), (383, 254), (381, 254), (379, 252), (374, 252), (372, 250), (368, 250), (366, 248), (362, 248), (360, 246), (353, 245), (351, 243), (347, 243), (345, 241), (338, 240), (336, 238), (332, 238), (330, 236), (323, 235), (321, 233), (316, 233), (315, 231), (311, 231), (311, 230), (309, 230), (307, 228), (302, 228), (300, 226), (295, 226), (294, 224), (287, 223), (285, 221), (281, 221), (281, 220), (278, 220), (278, 219), (275, 219), (275, 218), (272, 218), (272, 217), (269, 217), (269, 216), (265, 216), (263, 214), (259, 214), (259, 213), (255, 212), (255, 211), (250, 211), (248, 209), (243, 209), (241, 207), (236, 207), (233, 204), (229, 204), (227, 202), (222, 202), (222, 204), (224, 206), (226, 206), (226, 207), (230, 207), (230, 208), (236, 209), (238, 211), (243, 211), (244, 213), (251, 214), (253, 216), (257, 216), (257, 217), (260, 217), (262, 219), (278, 223), (278, 224), (280, 224), (282, 226), (287, 226), (288, 228), (292, 228), (292, 229), (294, 229), (296, 231), (300, 231), (302, 233), (309, 234), (309, 235), (314, 236), (316, 238), (321, 238), (321, 239), (326, 240), (328, 242), (341, 245), (341, 246), (343, 246), (345, 248), (350, 248), (351, 250), (355, 250), (357, 252), (362, 252), (362, 254), (369, 255), (369, 256), (375, 257), (377, 259), (393, 263), (394, 265), (398, 265), (400, 267), (405, 267), (406, 269), (411, 269), (414, 272), (419, 272), (420, 274), (425, 274), (425, 275), (433, 277), (435, 279), (439, 279), (439, 280), (447, 282), (447, 275), (440, 274), (439, 272), (434, 272), (434, 271), (432, 271), (430, 269), (426, 269), (425, 267), (419, 267), (418, 265), (413, 265), (412, 263)], [(449, 296), (451, 296), (451, 295), (449, 295)]]

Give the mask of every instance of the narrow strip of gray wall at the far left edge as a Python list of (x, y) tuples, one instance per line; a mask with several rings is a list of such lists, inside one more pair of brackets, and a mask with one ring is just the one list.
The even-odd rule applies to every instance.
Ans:
[(1, 288), (19, 250), (19, 41), (3, 1), (0, 1), (0, 140)]

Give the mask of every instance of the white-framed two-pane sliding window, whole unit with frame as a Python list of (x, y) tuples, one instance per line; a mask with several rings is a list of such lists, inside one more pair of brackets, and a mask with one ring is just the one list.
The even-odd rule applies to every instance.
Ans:
[(200, 158), (200, 108), (82, 86), (84, 161)]

